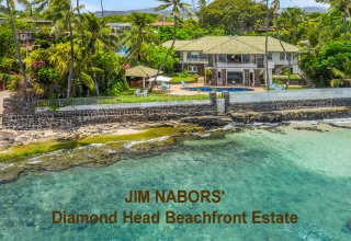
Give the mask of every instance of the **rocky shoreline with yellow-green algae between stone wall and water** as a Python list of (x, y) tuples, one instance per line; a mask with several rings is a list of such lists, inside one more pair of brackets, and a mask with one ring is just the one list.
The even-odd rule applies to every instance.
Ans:
[[(241, 113), (241, 116), (249, 116), (256, 122), (262, 120), (263, 116), (267, 123), (267, 115)], [(234, 125), (231, 118), (199, 116), (179, 122), (104, 124), (66, 130), (0, 130), (0, 184), (13, 182), (23, 173), (63, 171), (77, 167), (99, 168), (123, 158), (156, 156), (179, 148), (185, 139), (218, 139), (226, 134), (250, 128), (279, 133), (280, 127), (291, 126), (296, 130), (328, 131), (310, 123), (294, 126), (291, 123), (248, 125), (240, 122)], [(351, 128), (351, 125), (333, 123), (326, 126)], [(48, 145), (47, 149), (42, 148), (45, 145)], [(16, 152), (23, 154), (15, 156)]]

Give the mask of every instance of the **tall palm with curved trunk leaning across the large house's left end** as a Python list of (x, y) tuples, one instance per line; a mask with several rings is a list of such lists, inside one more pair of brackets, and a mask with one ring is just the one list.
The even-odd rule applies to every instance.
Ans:
[(157, 77), (160, 74), (160, 72), (162, 71), (162, 68), (167, 61), (167, 58), (168, 56), (171, 54), (173, 47), (174, 47), (174, 44), (176, 44), (176, 41), (177, 41), (177, 20), (180, 15), (181, 12), (186, 12), (188, 14), (191, 14), (191, 11), (190, 11), (190, 7), (191, 4), (189, 3), (185, 3), (185, 2), (182, 2), (181, 0), (159, 0), (160, 2), (163, 2), (163, 4), (159, 5), (158, 8), (156, 8), (156, 11), (160, 11), (160, 10), (165, 10), (165, 9), (168, 9), (168, 8), (171, 8), (172, 9), (172, 15), (173, 15), (173, 21), (174, 21), (174, 26), (173, 26), (173, 41), (172, 41), (172, 45), (171, 47), (169, 48), (169, 50), (167, 51), (166, 54), (166, 57), (160, 66), (160, 68), (158, 69), (157, 71), (157, 74), (155, 77), (155, 80), (151, 82), (150, 87), (149, 87), (149, 91), (152, 91), (154, 87), (155, 87), (155, 83), (157, 81)]

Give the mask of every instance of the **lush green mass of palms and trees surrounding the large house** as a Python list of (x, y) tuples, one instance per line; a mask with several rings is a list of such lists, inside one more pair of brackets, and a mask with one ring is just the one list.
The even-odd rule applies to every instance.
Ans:
[[(128, 90), (123, 77), (127, 66), (140, 64), (176, 76), (176, 39), (268, 34), (301, 47), (299, 67), (309, 84), (349, 87), (351, 3), (318, 1), (330, 3), (327, 13), (281, 9), (279, 0), (199, 0), (192, 5), (160, 0), (156, 10), (170, 10), (170, 16), (106, 15), (101, 1), (99, 18), (83, 11), (84, 2), (79, 0), (75, 4), (69, 0), (0, 0), (0, 18), (7, 19), (0, 23), (0, 81), (27, 100), (118, 95)], [(37, 20), (52, 24), (38, 27)], [(173, 25), (151, 25), (160, 21)], [(111, 22), (128, 22), (131, 27), (114, 34)], [(35, 41), (20, 42), (21, 33), (31, 33)], [(170, 48), (162, 47), (166, 41), (172, 41)], [(116, 55), (121, 50), (126, 55)]]

